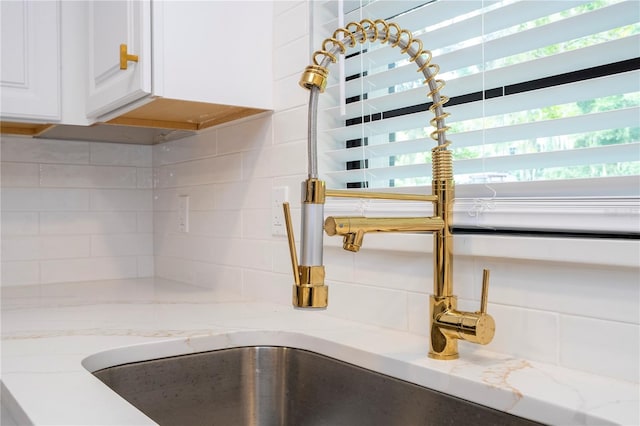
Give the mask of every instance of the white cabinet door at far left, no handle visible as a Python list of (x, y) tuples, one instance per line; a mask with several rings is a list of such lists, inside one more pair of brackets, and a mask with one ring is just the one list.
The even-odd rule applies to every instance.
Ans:
[(60, 2), (0, 1), (3, 120), (60, 120)]

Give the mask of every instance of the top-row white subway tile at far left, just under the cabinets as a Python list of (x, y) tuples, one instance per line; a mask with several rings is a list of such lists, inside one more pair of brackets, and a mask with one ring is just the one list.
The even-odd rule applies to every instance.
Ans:
[(2, 136), (2, 161), (88, 164), (89, 143)]

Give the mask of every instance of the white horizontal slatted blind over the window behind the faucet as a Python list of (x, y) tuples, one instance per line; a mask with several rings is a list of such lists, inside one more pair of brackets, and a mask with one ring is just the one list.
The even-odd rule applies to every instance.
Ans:
[[(396, 22), (432, 51), (458, 196), (638, 196), (640, 2), (317, 2), (315, 44), (363, 18)], [(380, 43), (340, 60), (320, 97), (328, 184), (430, 185), (430, 99), (416, 65)]]

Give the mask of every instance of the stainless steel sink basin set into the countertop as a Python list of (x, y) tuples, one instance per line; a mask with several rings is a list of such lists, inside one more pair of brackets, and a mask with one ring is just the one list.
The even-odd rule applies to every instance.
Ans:
[(534, 425), (301, 349), (251, 346), (93, 373), (161, 425)]

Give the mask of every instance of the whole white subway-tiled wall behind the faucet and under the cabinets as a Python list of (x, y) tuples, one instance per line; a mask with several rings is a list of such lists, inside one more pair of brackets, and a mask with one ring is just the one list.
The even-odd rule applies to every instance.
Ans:
[[(220, 300), (290, 305), (271, 190), (289, 188), (299, 236), (307, 7), (275, 3), (273, 114), (152, 149), (3, 138), (3, 285), (147, 276), (155, 264), (157, 276), (212, 288)], [(188, 233), (178, 229), (182, 195)], [(637, 241), (458, 236), (454, 244), (461, 309), (477, 309), (482, 268), (491, 269), (497, 331), (487, 349), (638, 381)], [(353, 254), (325, 238), (327, 315), (426, 337), (431, 245), (428, 235), (368, 235)]]

